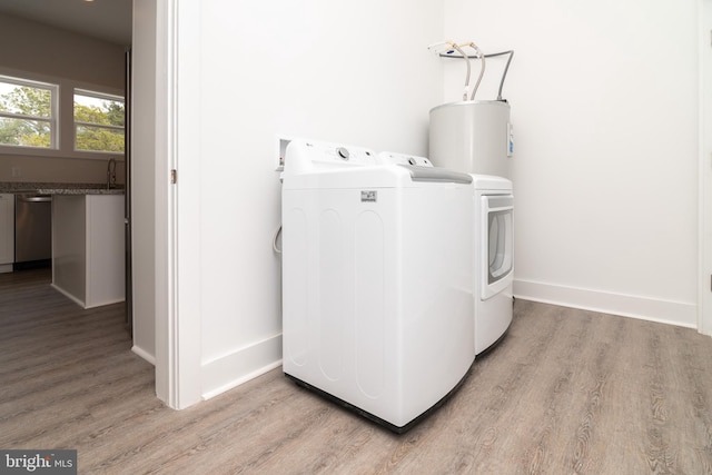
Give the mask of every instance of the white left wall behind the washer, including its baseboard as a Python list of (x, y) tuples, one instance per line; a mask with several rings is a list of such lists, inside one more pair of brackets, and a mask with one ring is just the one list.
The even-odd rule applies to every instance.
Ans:
[(178, 109), (196, 127), (189, 137), (179, 125), (191, 150), (178, 154), (180, 318), (200, 321), (210, 396), (280, 363), (277, 137), (426, 154), (427, 111), (443, 89), (426, 46), (442, 37), (443, 7), (178, 4), (190, 17), (178, 13)]

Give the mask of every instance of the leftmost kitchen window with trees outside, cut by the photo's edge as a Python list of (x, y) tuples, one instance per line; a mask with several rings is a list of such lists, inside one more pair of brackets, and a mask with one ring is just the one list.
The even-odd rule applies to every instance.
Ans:
[(57, 149), (59, 86), (0, 76), (0, 146)]

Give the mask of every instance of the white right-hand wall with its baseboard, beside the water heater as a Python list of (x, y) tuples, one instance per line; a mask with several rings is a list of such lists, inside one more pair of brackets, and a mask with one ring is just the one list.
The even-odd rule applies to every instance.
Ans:
[[(447, 37), (515, 50), (517, 296), (696, 325), (696, 0), (445, 1)], [(444, 68), (457, 100), (463, 65)]]

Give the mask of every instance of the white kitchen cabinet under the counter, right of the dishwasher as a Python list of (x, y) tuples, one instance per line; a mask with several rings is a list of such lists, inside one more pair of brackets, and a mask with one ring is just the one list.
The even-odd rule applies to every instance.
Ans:
[(52, 197), (52, 287), (83, 308), (123, 301), (123, 195)]

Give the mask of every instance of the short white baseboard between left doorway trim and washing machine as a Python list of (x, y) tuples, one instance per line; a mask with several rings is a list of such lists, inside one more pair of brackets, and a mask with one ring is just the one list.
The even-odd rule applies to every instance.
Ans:
[(202, 364), (202, 398), (209, 399), (281, 365), (281, 335)]

